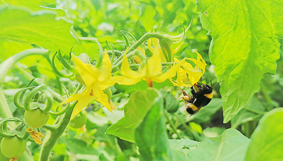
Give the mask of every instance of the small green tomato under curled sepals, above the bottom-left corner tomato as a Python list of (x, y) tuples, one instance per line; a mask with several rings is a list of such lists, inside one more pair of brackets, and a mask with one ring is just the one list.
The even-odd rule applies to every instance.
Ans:
[(48, 121), (49, 113), (44, 113), (39, 108), (37, 108), (35, 110), (26, 111), (24, 118), (29, 126), (40, 128)]

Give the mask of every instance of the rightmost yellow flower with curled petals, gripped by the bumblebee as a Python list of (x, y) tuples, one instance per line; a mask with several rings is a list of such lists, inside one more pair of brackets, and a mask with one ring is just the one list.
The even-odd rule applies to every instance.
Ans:
[[(196, 66), (193, 67), (188, 62), (183, 63), (181, 68), (177, 70), (177, 79), (176, 80), (172, 80), (172, 78), (169, 79), (174, 86), (191, 87), (195, 83), (198, 83), (199, 79), (204, 74), (206, 63), (202, 59), (201, 55), (197, 51), (195, 52), (198, 54), (197, 60), (192, 58), (186, 58), (186, 59), (194, 62)], [(174, 61), (180, 62), (180, 60), (176, 58), (174, 58)]]

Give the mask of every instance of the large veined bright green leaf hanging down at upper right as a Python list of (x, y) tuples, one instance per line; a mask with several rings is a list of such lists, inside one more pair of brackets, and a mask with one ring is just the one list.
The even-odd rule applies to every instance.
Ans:
[(283, 36), (282, 0), (197, 0), (202, 27), (211, 35), (223, 100), (224, 123), (259, 91), (264, 73), (276, 72)]

